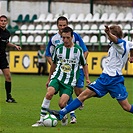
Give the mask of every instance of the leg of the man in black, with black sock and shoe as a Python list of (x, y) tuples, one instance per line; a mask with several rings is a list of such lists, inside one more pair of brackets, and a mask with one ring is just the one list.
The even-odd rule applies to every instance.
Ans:
[(2, 69), (2, 72), (5, 77), (5, 89), (6, 89), (6, 102), (16, 103), (15, 99), (11, 95), (11, 74), (9, 68)]

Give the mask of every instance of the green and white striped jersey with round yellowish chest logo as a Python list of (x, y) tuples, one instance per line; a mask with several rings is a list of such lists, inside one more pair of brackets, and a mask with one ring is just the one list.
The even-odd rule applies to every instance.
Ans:
[(64, 84), (75, 86), (79, 78), (80, 65), (86, 65), (81, 47), (75, 44), (71, 48), (66, 48), (61, 44), (56, 47), (52, 60), (56, 64), (56, 69), (51, 79), (57, 78)]

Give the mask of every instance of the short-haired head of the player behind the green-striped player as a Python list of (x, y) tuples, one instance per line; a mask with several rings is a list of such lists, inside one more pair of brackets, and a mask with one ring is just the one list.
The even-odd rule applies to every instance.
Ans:
[(64, 16), (60, 16), (58, 19), (57, 19), (57, 27), (58, 27), (58, 30), (59, 30), (59, 34), (61, 34), (62, 30), (68, 26), (68, 20), (66, 17)]

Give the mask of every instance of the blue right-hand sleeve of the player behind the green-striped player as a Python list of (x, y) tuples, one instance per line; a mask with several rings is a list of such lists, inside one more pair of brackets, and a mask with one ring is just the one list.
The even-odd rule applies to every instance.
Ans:
[(75, 42), (74, 43), (78, 44), (82, 48), (83, 52), (87, 52), (88, 49), (87, 49), (85, 43), (83, 42), (82, 38), (80, 37), (80, 35), (75, 33), (75, 32), (73, 32), (73, 34), (74, 34), (74, 37), (75, 37)]

